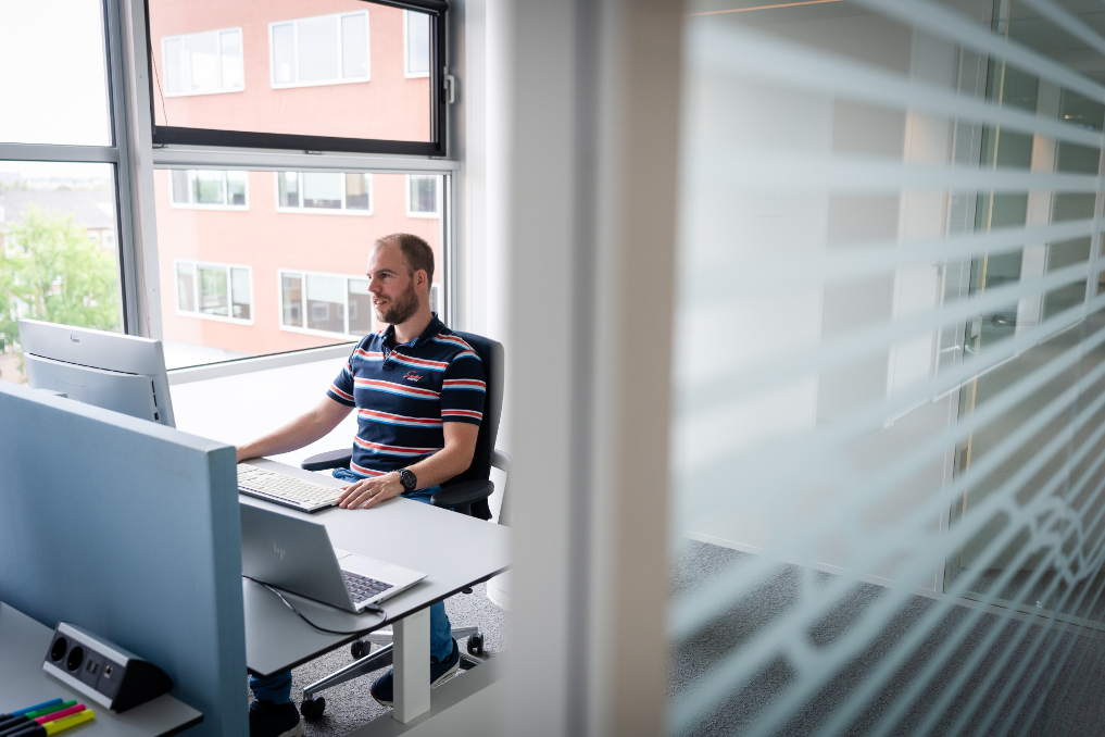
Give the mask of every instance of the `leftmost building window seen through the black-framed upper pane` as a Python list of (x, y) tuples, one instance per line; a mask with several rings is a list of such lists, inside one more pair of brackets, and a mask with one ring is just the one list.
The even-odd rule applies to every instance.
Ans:
[(245, 90), (242, 29), (161, 39), (165, 95), (213, 95)]

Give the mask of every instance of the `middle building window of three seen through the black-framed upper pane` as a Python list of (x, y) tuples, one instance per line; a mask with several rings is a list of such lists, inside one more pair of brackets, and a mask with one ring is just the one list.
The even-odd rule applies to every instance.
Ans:
[(269, 24), (273, 87), (368, 82), (368, 11)]

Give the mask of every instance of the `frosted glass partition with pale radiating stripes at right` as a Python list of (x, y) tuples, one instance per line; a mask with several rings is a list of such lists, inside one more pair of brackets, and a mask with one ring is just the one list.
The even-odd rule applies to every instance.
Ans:
[(670, 734), (1101, 708), (1103, 10), (690, 4)]

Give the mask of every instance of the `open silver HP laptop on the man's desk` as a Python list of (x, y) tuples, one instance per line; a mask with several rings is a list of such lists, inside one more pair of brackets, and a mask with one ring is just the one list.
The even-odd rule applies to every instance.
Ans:
[(418, 583), (425, 573), (341, 550), (326, 527), (249, 504), (242, 512), (242, 576), (348, 612)]

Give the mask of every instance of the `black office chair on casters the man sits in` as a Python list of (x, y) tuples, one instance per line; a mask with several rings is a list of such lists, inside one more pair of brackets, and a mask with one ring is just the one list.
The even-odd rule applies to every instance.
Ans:
[[(495, 439), (498, 435), (498, 421), (503, 410), (503, 368), (505, 351), (503, 345), (490, 338), (484, 338), (472, 333), (454, 331), (453, 335), (472, 346), (484, 366), (484, 379), (486, 380), (486, 393), (484, 394), (484, 413), (480, 423), (480, 431), (476, 435), (476, 449), (472, 455), (472, 465), (467, 471), (450, 478), (441, 485), (441, 491), (431, 497), (435, 507), (444, 507), (471, 515), (480, 519), (491, 519), (491, 507), (487, 505), (487, 497), (495, 491), (495, 484), (491, 481), (492, 467), (509, 473), (511, 457), (495, 449)], [(299, 466), (306, 471), (327, 471), (330, 468), (348, 468), (352, 461), (352, 448), (319, 453), (305, 460)], [(506, 488), (503, 488), (504, 505), (499, 510), (499, 524), (507, 524), (506, 513)], [(462, 589), (464, 593), (472, 593), (471, 588)], [(359, 678), (373, 671), (387, 667), (391, 664), (391, 642), (390, 632), (372, 632), (361, 640), (355, 640), (349, 647), (356, 661), (339, 671), (335, 671), (328, 676), (316, 681), (303, 689), (303, 705), (299, 712), (305, 719), (314, 720), (323, 715), (326, 708), (326, 699), (318, 696), (320, 691), (330, 688), (338, 684), (354, 678)], [(478, 627), (453, 628), (453, 638), (463, 640), (467, 638), (469, 655), (461, 655), (461, 670), (467, 671), (480, 664), (480, 661), (470, 655), (483, 655), (483, 634)], [(380, 650), (369, 654), (371, 644), (383, 645)]]

